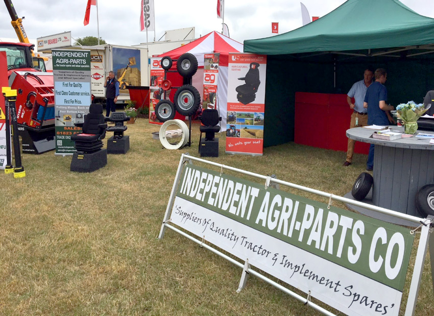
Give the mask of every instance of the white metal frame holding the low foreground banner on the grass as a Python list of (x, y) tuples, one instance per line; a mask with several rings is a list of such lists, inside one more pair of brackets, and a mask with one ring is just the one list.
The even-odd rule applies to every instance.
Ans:
[(408, 299), (407, 299), (407, 303), (406, 303), (405, 316), (414, 315), (414, 313), (415, 313), (416, 302), (417, 302), (419, 287), (420, 287), (420, 280), (422, 277), (423, 265), (424, 265), (424, 261), (425, 261), (426, 252), (428, 250), (429, 242), (431, 243), (431, 248), (429, 250), (429, 253), (430, 253), (430, 260), (431, 260), (432, 283), (433, 283), (433, 288), (434, 288), (434, 274), (433, 274), (433, 272), (434, 272), (434, 234), (432, 234), (433, 227), (434, 227), (434, 216), (429, 215), (427, 218), (424, 218), (423, 220), (421, 220), (421, 218), (416, 217), (416, 216), (399, 213), (399, 212), (396, 212), (393, 210), (389, 210), (389, 209), (365, 204), (363, 202), (354, 201), (354, 200), (350, 200), (350, 199), (347, 199), (344, 197), (336, 196), (336, 195), (333, 195), (331, 193), (327, 193), (327, 192), (319, 191), (316, 189), (311, 189), (308, 187), (300, 186), (300, 185), (297, 185), (294, 183), (282, 181), (282, 180), (276, 179), (274, 175), (273, 176), (263, 176), (263, 175), (255, 174), (252, 172), (244, 171), (242, 169), (223, 165), (220, 163), (215, 163), (212, 161), (207, 161), (207, 160), (204, 160), (201, 158), (192, 157), (192, 156), (182, 154), (180, 161), (179, 161), (179, 164), (178, 164), (178, 170), (177, 170), (177, 173), (175, 176), (175, 181), (174, 181), (174, 184), (172, 187), (171, 195), (170, 195), (169, 201), (167, 203), (167, 207), (166, 207), (164, 219), (163, 219), (163, 222), (161, 225), (160, 233), (158, 235), (158, 239), (162, 239), (164, 237), (164, 232), (165, 232), (166, 228), (171, 229), (171, 230), (181, 234), (182, 236), (186, 237), (187, 239), (196, 242), (196, 244), (200, 245), (200, 247), (206, 248), (209, 251), (211, 251), (211, 252), (223, 257), (224, 259), (228, 260), (229, 262), (235, 264), (239, 268), (242, 268), (243, 273), (242, 273), (242, 276), (240, 277), (239, 285), (238, 285), (238, 288), (236, 290), (237, 293), (239, 293), (239, 291), (242, 290), (246, 286), (249, 275), (253, 275), (253, 276), (273, 285), (274, 287), (280, 289), (281, 291), (292, 296), (293, 298), (299, 300), (303, 304), (310, 306), (310, 307), (314, 308), (317, 311), (320, 311), (321, 313), (323, 313), (325, 315), (334, 315), (332, 312), (322, 308), (321, 306), (318, 306), (315, 303), (312, 303), (310, 301), (310, 293), (308, 293), (307, 298), (302, 297), (302, 296), (298, 295), (297, 293), (295, 293), (294, 291), (276, 283), (275, 281), (269, 279), (266, 276), (263, 276), (262, 274), (260, 274), (256, 271), (254, 271), (251, 268), (251, 265), (248, 262), (248, 260), (243, 262), (243, 263), (238, 262), (237, 260), (227, 256), (226, 254), (222, 253), (221, 251), (204, 244), (204, 241), (205, 241), (204, 239), (199, 240), (199, 239), (185, 233), (184, 231), (178, 229), (177, 227), (171, 225), (172, 209), (174, 206), (176, 192), (177, 192), (177, 189), (179, 186), (179, 182), (181, 179), (183, 169), (184, 169), (186, 163), (193, 164), (194, 161), (208, 164), (208, 165), (212, 165), (214, 167), (218, 167), (220, 169), (221, 174), (223, 173), (224, 170), (228, 170), (228, 171), (240, 173), (243, 175), (248, 175), (248, 176), (251, 176), (251, 177), (254, 177), (257, 179), (261, 179), (264, 181), (266, 187), (272, 186), (272, 187), (278, 188), (279, 185), (284, 185), (284, 186), (295, 188), (295, 189), (302, 190), (305, 192), (314, 193), (315, 195), (318, 195), (320, 197), (328, 198), (329, 199), (329, 205), (331, 205), (333, 200), (339, 201), (339, 202), (352, 204), (352, 205), (359, 206), (359, 207), (364, 207), (364, 208), (367, 208), (367, 209), (370, 209), (373, 211), (377, 211), (377, 212), (380, 212), (383, 214), (392, 215), (392, 216), (395, 216), (398, 218), (402, 218), (403, 220), (407, 220), (407, 221), (411, 221), (413, 223), (420, 224), (419, 227), (417, 227), (416, 229), (411, 231), (411, 234), (414, 234), (418, 229), (421, 229), (421, 236), (420, 236), (420, 240), (419, 240), (419, 245), (418, 246), (413, 245), (413, 247), (417, 247), (417, 255), (416, 255), (416, 261), (415, 261), (415, 266), (414, 266), (414, 270), (413, 270), (411, 285), (410, 285), (410, 289), (409, 289)]

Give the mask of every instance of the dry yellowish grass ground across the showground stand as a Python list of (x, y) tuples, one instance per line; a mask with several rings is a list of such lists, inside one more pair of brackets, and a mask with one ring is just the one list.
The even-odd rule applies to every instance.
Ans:
[[(54, 152), (24, 155), (25, 178), (1, 173), (0, 314), (319, 315), (253, 276), (237, 294), (241, 269), (171, 230), (156, 239), (180, 155), (198, 156), (199, 125), (192, 129), (190, 148), (168, 151), (152, 139), (159, 126), (137, 119), (126, 131), (130, 151), (94, 173), (71, 173), (71, 157)], [(208, 160), (334, 195), (365, 169), (365, 155), (345, 168), (345, 153), (295, 143), (262, 157), (226, 155), (225, 133), (218, 137), (220, 156)], [(434, 314), (432, 296), (427, 255), (416, 315)]]

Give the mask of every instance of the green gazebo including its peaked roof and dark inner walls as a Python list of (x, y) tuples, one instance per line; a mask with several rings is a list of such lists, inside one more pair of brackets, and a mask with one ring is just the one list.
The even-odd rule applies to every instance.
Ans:
[(297, 91), (346, 93), (367, 66), (387, 69), (391, 104), (434, 88), (434, 19), (398, 0), (348, 0), (294, 31), (246, 40), (244, 52), (268, 55), (265, 147), (294, 140)]

